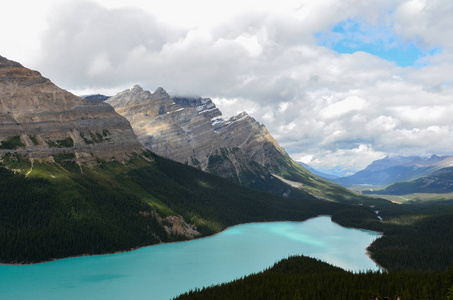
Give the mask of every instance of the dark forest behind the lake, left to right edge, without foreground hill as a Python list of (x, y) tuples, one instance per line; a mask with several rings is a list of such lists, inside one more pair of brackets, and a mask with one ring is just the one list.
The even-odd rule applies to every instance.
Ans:
[(56, 161), (32, 166), (27, 160), (3, 158), (3, 166), (22, 171), (14, 174), (0, 167), (2, 262), (109, 253), (186, 239), (167, 234), (167, 216), (182, 216), (205, 236), (240, 223), (303, 221), (317, 215), (383, 232), (370, 250), (388, 270), (445, 270), (453, 260), (452, 205), (378, 201), (370, 207), (309, 195), (279, 197), (150, 152), (127, 164), (99, 160), (94, 167), (78, 166), (63, 156)]

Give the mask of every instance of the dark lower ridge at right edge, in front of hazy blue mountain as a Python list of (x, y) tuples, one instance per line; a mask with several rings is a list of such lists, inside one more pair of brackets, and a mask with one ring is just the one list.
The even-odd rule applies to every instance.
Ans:
[(428, 176), (406, 182), (395, 182), (385, 189), (364, 191), (364, 194), (407, 195), (415, 193), (446, 194), (453, 192), (453, 167), (442, 168)]

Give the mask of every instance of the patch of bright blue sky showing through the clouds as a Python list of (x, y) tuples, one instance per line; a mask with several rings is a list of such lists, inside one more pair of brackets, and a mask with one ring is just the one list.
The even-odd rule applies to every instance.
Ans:
[(342, 21), (330, 31), (318, 32), (315, 36), (319, 45), (340, 54), (363, 51), (395, 62), (400, 67), (425, 66), (428, 60), (421, 60), (422, 58), (441, 52), (437, 47), (419, 47), (416, 41), (401, 41), (391, 26), (372, 26), (355, 19)]

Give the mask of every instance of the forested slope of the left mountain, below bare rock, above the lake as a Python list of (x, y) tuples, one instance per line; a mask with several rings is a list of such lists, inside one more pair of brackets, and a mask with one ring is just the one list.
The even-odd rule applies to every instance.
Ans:
[(37, 262), (185, 239), (169, 236), (156, 215), (183, 216), (204, 236), (239, 223), (302, 221), (342, 207), (308, 195), (288, 199), (252, 191), (146, 155), (125, 165), (98, 160), (97, 166), (76, 165), (70, 155), (56, 156), (56, 163), (33, 164), (4, 156), (0, 260)]

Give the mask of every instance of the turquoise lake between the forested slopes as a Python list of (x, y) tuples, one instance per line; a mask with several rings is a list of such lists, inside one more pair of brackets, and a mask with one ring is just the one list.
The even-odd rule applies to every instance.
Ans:
[(379, 236), (341, 227), (327, 216), (244, 224), (204, 239), (131, 252), (0, 265), (0, 299), (171, 299), (296, 254), (346, 270), (378, 270), (365, 249)]

